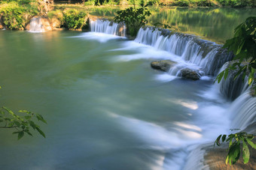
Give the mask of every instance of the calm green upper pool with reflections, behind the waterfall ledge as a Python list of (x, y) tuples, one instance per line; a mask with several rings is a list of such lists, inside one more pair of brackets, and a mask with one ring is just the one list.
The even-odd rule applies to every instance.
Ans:
[[(120, 7), (96, 7), (88, 9), (91, 15), (113, 18)], [(151, 24), (162, 22), (178, 31), (196, 34), (207, 40), (224, 43), (233, 37), (233, 30), (248, 16), (256, 16), (254, 8), (187, 8), (150, 7)]]

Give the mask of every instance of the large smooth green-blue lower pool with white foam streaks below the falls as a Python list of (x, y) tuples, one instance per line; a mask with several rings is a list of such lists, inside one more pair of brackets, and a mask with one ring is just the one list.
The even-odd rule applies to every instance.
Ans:
[(47, 120), (46, 139), (0, 131), (1, 169), (187, 169), (230, 128), (214, 76), (151, 69), (172, 52), (79, 31), (0, 31), (0, 51), (1, 106)]

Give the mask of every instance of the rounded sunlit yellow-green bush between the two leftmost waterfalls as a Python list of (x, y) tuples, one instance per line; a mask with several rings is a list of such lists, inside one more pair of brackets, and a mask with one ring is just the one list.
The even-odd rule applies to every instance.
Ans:
[(87, 13), (75, 9), (67, 10), (63, 14), (63, 25), (65, 28), (78, 29), (85, 24)]

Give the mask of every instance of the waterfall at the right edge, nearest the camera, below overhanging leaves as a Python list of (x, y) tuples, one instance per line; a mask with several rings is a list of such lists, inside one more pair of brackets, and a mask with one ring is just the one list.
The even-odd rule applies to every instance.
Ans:
[[(227, 62), (221, 70), (227, 68), (232, 62)], [(231, 129), (245, 130), (256, 122), (256, 97), (251, 96), (251, 86), (248, 86), (248, 76), (242, 81), (242, 74), (236, 77), (236, 70), (230, 70), (227, 79), (222, 79), (218, 84), (221, 94), (233, 100), (227, 113), (231, 119)], [(216, 82), (217, 83), (217, 82)]]

